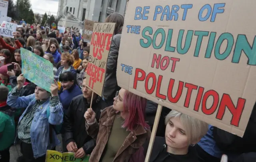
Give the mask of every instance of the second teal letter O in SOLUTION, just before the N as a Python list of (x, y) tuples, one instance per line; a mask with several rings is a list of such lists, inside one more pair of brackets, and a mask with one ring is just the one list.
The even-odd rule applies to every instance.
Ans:
[[(228, 43), (227, 43), (227, 47), (226, 47), (226, 50), (220, 54), (220, 47), (223, 43), (224, 40), (227, 40)], [(234, 38), (232, 36), (232, 34), (230, 33), (222, 33), (220, 35), (220, 37), (218, 38), (217, 42), (216, 42), (216, 45), (215, 45), (215, 49), (214, 49), (214, 54), (215, 54), (215, 57), (218, 59), (218, 60), (224, 60), (226, 59), (231, 50), (232, 50), (232, 47), (234, 45)]]

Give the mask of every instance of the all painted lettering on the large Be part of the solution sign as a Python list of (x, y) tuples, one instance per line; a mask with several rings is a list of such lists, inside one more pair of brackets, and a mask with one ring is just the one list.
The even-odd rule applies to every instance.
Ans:
[[(225, 5), (225, 3), (205, 4), (200, 8), (196, 16), (200, 22), (215, 22), (220, 16), (219, 14), (225, 13)], [(185, 21), (192, 8), (192, 4), (156, 6), (152, 8), (154, 14), (150, 14), (150, 6), (138, 6), (135, 9), (134, 20)], [(150, 17), (149, 15), (153, 16)], [(230, 94), (220, 94), (215, 90), (205, 90), (200, 85), (175, 80), (174, 78), (164, 78), (164, 75), (157, 74), (156, 69), (164, 71), (170, 67), (168, 68), (170, 71), (166, 72), (175, 72), (176, 66), (182, 61), (179, 56), (185, 54), (193, 54), (195, 58), (203, 54), (205, 59), (217, 60), (226, 60), (230, 56), (232, 59), (229, 60), (234, 64), (238, 64), (241, 56), (245, 55), (248, 59), (247, 64), (254, 66), (256, 65), (256, 57), (254, 57), (256, 36), (254, 36), (254, 41), (250, 44), (247, 36), (243, 33), (236, 35), (229, 32), (218, 34), (215, 31), (184, 30), (182, 28), (174, 30), (168, 27), (152, 28), (151, 26), (142, 27), (136, 24), (126, 25), (127, 30), (125, 32), (141, 35), (141, 38), (136, 41), (142, 48), (164, 49), (165, 54), (172, 53), (171, 56), (162, 56), (160, 53), (153, 54), (150, 66), (152, 72), (120, 63), (118, 66), (122, 67), (123, 72), (130, 75), (134, 73), (133, 88), (137, 89), (138, 83), (143, 82), (143, 89), (147, 94), (155, 94), (156, 98), (168, 100), (171, 103), (180, 101), (182, 94), (184, 94), (186, 97), (180, 102), (184, 103), (183, 106), (185, 108), (193, 106), (194, 111), (198, 112), (200, 109), (206, 115), (216, 112), (216, 119), (218, 120), (222, 120), (225, 110), (229, 110), (232, 114), (230, 124), (238, 127), (246, 99), (234, 99), (230, 97)], [(175, 40), (173, 35), (175, 35)], [(203, 47), (202, 42), (206, 41), (208, 43)], [(192, 42), (196, 42), (196, 45), (191, 46)], [(205, 51), (200, 51), (202, 48)], [(168, 88), (166, 90), (161, 89), (162, 80), (168, 80)], [(178, 85), (178, 90), (174, 88), (174, 84)], [(192, 93), (196, 94), (194, 101), (191, 100)], [(212, 101), (210, 107), (206, 107), (208, 99)]]

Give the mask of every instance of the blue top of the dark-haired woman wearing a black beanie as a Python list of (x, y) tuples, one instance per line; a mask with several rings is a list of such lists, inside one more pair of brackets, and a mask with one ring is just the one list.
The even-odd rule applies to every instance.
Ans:
[(83, 94), (82, 90), (79, 88), (78, 85), (74, 84), (70, 89), (63, 90), (59, 96), (60, 96), (60, 102), (63, 105), (63, 110), (67, 110), (68, 106), (70, 105), (70, 102), (73, 100), (74, 97)]

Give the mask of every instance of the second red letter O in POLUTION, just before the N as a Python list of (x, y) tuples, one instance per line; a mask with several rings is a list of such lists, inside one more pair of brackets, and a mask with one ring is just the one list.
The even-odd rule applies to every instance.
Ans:
[[(207, 99), (212, 96), (213, 102), (210, 108), (206, 108)], [(202, 112), (206, 115), (211, 115), (216, 111), (216, 108), (219, 104), (219, 94), (215, 90), (208, 90), (205, 92), (203, 100), (202, 100)]]

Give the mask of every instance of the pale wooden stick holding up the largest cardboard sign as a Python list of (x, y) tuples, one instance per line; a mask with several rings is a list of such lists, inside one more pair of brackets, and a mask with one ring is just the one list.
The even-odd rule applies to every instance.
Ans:
[(147, 151), (147, 155), (146, 155), (146, 158), (145, 158), (145, 162), (149, 162), (149, 159), (150, 159), (151, 151), (152, 151), (154, 140), (155, 140), (155, 137), (156, 137), (156, 130), (157, 130), (159, 119), (160, 119), (161, 112), (162, 112), (162, 107), (163, 106), (158, 104), (157, 111), (156, 111), (156, 117), (155, 117), (153, 129), (152, 129), (152, 132), (151, 132), (151, 136), (150, 136), (150, 141), (149, 141), (149, 144), (148, 144), (148, 151)]

